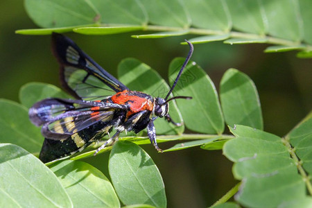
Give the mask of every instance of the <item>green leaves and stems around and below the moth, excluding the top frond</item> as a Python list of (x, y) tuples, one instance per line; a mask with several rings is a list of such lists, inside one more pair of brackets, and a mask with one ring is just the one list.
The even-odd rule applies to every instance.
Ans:
[[(169, 83), (173, 83), (182, 62), (182, 58), (171, 62)], [(121, 61), (118, 73), (119, 80), (130, 89), (161, 97), (168, 92), (164, 79), (139, 60), (128, 58)], [(252, 80), (236, 69), (226, 71), (220, 82), (220, 105), (214, 83), (194, 62), (187, 65), (174, 94), (193, 96), (192, 100), (171, 102), (170, 112), (176, 112), (175, 121), (181, 121), (183, 117), (186, 127), (200, 134), (183, 134), (184, 128), (174, 129), (163, 119), (157, 119), (159, 143), (182, 140), (182, 143), (164, 151), (196, 146), (204, 150), (223, 148), (225, 156), (234, 162), (234, 177), (242, 180), (241, 185), (236, 186), (239, 192), (238, 188), (232, 189), (216, 203), (216, 207), (238, 207), (233, 203), (222, 204), (236, 192), (234, 199), (247, 207), (311, 205), (311, 197), (306, 195), (306, 189), (312, 193), (309, 177), (312, 171), (312, 114), (286, 137), (263, 132), (259, 98)], [(57, 87), (44, 83), (29, 83), (21, 87), (19, 96), (26, 107), (42, 98), (68, 97)], [(42, 144), (42, 136), (40, 129), (28, 121), (27, 108), (6, 100), (1, 100), (0, 105), (3, 111), (0, 116), (1, 143), (10, 142), (31, 153), (37, 152)], [(231, 126), (229, 129), (234, 136), (223, 134), (224, 121)], [(185, 142), (186, 139), (192, 141)], [(46, 205), (48, 207), (60, 203), (65, 203), (60, 205), (62, 207), (70, 207), (71, 203), (74, 207), (119, 207), (119, 200), (128, 207), (166, 207), (164, 182), (158, 168), (150, 156), (137, 146), (149, 144), (149, 139), (135, 136), (121, 137), (120, 140), (101, 151), (105, 153), (112, 150), (108, 166), (112, 184), (94, 166), (76, 161), (92, 156), (94, 150), (72, 157), (75, 161), (51, 162), (50, 171), (26, 150), (12, 144), (1, 144), (3, 161), (0, 163), (0, 171), (6, 173), (0, 177), (1, 187), (5, 187), (1, 191), (8, 197), (0, 198), (0, 205), (29, 207), (49, 198), (48, 202), (53, 205)], [(101, 143), (94, 148), (99, 145)], [(26, 175), (20, 177), (20, 174)], [(46, 177), (51, 179), (46, 180)], [(31, 191), (24, 191), (24, 195), (21, 195), (16, 193), (19, 189), (10, 189), (20, 184), (25, 186), (23, 189), (28, 189), (27, 182), (33, 184), (31, 189), (39, 189), (44, 196), (38, 196), (37, 193), (28, 195)], [(55, 184), (53, 188), (51, 183)], [(46, 193), (45, 190), (49, 191)], [(24, 202), (19, 201), (20, 198), (28, 198), (28, 204), (24, 205)]]

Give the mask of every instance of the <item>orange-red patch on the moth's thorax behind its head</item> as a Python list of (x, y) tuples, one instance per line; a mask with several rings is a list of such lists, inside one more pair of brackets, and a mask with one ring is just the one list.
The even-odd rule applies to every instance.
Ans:
[(147, 94), (141, 92), (124, 90), (123, 92), (114, 94), (111, 99), (116, 104), (122, 105), (128, 103), (130, 105), (130, 111), (127, 113), (127, 116), (130, 116), (142, 110), (153, 110), (153, 102), (147, 96)]

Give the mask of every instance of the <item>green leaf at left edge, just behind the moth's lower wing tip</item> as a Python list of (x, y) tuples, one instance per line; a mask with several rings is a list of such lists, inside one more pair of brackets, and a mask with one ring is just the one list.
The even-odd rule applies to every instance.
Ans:
[(40, 151), (43, 137), (40, 128), (28, 119), (23, 105), (0, 99), (0, 142), (17, 144), (31, 153)]

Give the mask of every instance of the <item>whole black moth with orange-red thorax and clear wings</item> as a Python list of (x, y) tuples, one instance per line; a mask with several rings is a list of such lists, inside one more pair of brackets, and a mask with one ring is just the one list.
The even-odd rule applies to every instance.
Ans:
[[(29, 110), (31, 121), (35, 125), (42, 125), (41, 132), (45, 137), (39, 156), (42, 162), (78, 153), (109, 135), (113, 129), (116, 133), (94, 155), (118, 138), (121, 132), (137, 133), (145, 128), (150, 142), (162, 152), (157, 146), (153, 121), (157, 117), (164, 117), (174, 125), (181, 125), (168, 114), (168, 102), (177, 98), (191, 98), (175, 96), (168, 99), (193, 53), (192, 44), (187, 43), (190, 51), (175, 83), (165, 98), (153, 98), (143, 92), (131, 91), (68, 37), (53, 33), (52, 50), (60, 64), (60, 80), (63, 87), (78, 100), (47, 98), (35, 103)], [(115, 94), (104, 96), (107, 92)]]

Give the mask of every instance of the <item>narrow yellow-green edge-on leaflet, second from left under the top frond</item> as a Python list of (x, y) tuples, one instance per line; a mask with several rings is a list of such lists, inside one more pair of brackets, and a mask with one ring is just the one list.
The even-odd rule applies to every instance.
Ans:
[(85, 35), (110, 35), (117, 33), (128, 33), (131, 31), (141, 31), (143, 28), (143, 26), (80, 27), (74, 28), (73, 32)]

